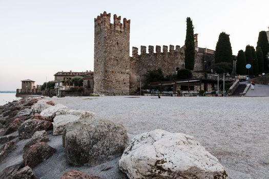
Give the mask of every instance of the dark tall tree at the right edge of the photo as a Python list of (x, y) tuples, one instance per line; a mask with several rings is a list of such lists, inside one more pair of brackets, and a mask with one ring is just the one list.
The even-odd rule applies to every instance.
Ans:
[(267, 34), (265, 31), (261, 31), (259, 33), (256, 49), (258, 49), (258, 47), (261, 47), (261, 50), (263, 53), (264, 71), (267, 71), (267, 70), (269, 70), (269, 67), (268, 67), (268, 59), (266, 58), (266, 55), (269, 52), (269, 43), (268, 43), (268, 38), (267, 38)]

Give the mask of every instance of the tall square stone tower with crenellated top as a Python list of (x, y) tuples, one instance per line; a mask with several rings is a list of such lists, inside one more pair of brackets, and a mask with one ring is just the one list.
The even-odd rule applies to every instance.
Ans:
[(94, 19), (94, 93), (129, 95), (130, 20), (105, 11)]

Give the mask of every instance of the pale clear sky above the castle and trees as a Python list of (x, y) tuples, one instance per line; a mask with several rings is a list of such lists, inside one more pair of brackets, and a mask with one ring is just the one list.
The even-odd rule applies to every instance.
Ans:
[[(94, 18), (107, 11), (131, 19), (130, 51), (141, 45), (184, 45), (191, 17), (198, 45), (215, 50), (230, 34), (233, 54), (256, 47), (269, 26), (269, 1), (0, 0), (0, 91), (20, 80), (43, 84), (58, 71), (93, 71)], [(139, 50), (140, 51), (140, 50)]]

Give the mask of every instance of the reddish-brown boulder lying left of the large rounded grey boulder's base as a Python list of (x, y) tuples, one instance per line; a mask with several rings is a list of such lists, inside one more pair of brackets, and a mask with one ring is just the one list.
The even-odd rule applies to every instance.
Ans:
[(35, 167), (39, 163), (42, 163), (46, 159), (50, 158), (56, 149), (52, 148), (45, 142), (39, 142), (30, 146), (23, 155), (25, 166), (29, 166), (31, 168)]

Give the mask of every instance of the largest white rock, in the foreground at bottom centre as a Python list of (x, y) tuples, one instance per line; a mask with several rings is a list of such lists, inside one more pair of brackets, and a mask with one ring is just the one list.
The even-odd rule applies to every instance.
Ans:
[(224, 179), (224, 167), (194, 137), (156, 129), (134, 137), (119, 160), (131, 178)]

